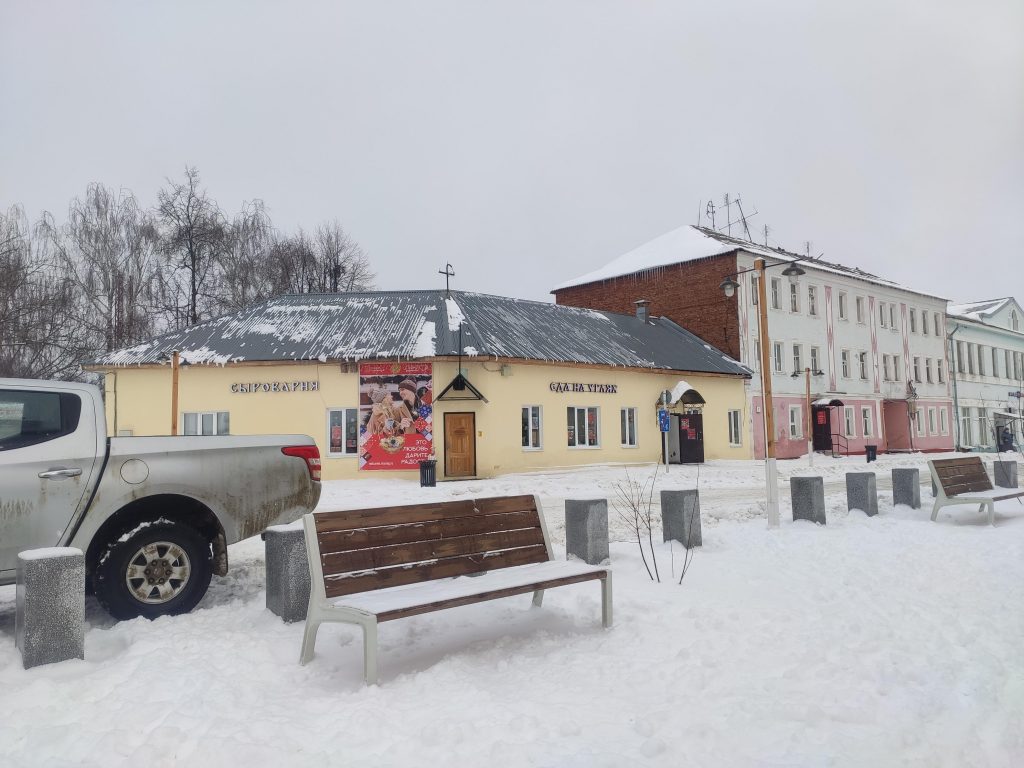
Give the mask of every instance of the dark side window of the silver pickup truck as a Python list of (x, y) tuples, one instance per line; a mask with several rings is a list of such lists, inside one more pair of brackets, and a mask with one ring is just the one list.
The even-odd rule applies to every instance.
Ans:
[(82, 400), (70, 392), (0, 389), (0, 451), (46, 442), (78, 429)]

